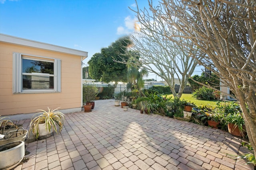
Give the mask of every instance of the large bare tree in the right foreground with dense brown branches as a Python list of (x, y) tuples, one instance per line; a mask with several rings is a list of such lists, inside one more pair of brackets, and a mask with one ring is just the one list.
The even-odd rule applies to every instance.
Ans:
[[(205, 53), (198, 62), (234, 93), (256, 150), (256, 1), (162, 0), (157, 7), (149, 4), (154, 15), (179, 32), (160, 32), (162, 36), (184, 48), (187, 42), (194, 43), (195, 50)], [(177, 41), (177, 37), (188, 41)]]

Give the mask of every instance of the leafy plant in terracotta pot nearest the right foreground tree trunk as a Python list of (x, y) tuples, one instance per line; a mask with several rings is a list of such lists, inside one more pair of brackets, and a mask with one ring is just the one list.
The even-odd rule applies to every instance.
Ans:
[(229, 113), (226, 117), (224, 117), (226, 124), (228, 125), (228, 132), (232, 135), (236, 135), (239, 137), (246, 137), (246, 129), (244, 125), (244, 118), (242, 113)]

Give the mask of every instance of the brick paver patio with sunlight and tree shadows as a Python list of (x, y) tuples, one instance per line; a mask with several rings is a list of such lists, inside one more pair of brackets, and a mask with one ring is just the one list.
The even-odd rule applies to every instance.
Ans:
[[(19, 123), (28, 128), (29, 121)], [(220, 129), (97, 100), (92, 112), (66, 114), (60, 135), (29, 143), (28, 162), (15, 170), (252, 170), (232, 156), (248, 152), (241, 141)]]

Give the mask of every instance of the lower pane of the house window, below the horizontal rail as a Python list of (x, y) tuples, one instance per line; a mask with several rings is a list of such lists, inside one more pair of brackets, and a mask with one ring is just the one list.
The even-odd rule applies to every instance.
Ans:
[(22, 76), (22, 89), (53, 89), (53, 76)]

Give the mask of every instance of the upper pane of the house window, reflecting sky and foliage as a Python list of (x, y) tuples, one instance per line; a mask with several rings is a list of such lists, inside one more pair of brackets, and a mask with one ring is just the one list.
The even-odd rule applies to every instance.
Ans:
[(46, 61), (22, 59), (22, 72), (54, 74), (54, 63), (46, 62)]

